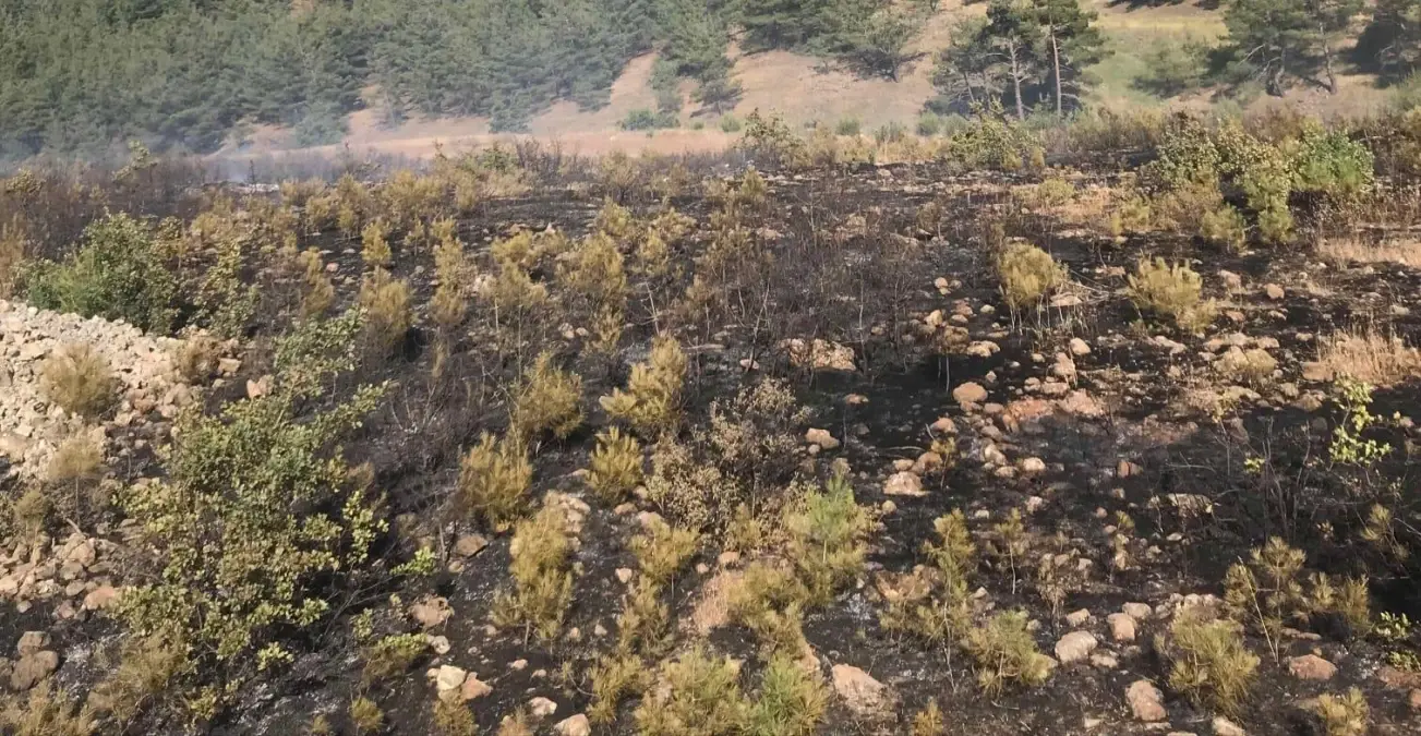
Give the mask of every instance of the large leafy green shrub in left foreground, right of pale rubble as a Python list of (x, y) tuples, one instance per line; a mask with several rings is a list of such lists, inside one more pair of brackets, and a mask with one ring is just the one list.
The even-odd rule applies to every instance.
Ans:
[(139, 634), (175, 628), (219, 662), (256, 655), (266, 666), (291, 656), (286, 637), (325, 617), (331, 585), (367, 567), (387, 524), (374, 473), (350, 469), (337, 442), (385, 389), (364, 386), (314, 418), (297, 416), (327, 375), (354, 367), (342, 324), (325, 327), (306, 325), (296, 344), (279, 344), (270, 394), (217, 415), (183, 413), (165, 479), (122, 499), (161, 568), (119, 607)]

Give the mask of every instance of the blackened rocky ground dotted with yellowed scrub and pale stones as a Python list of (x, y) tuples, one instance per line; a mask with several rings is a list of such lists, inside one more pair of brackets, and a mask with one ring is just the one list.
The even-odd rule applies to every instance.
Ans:
[(1088, 161), (760, 153), (207, 193), (180, 330), (0, 303), (0, 723), (1421, 726), (1414, 183), (1273, 243), (1222, 178), (1229, 244)]

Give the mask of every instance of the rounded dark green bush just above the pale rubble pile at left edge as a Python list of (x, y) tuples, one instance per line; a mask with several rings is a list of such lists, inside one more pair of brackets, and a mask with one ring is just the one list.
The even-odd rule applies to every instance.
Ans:
[(162, 243), (122, 213), (90, 224), (64, 263), (36, 264), (24, 286), (34, 307), (124, 320), (151, 332), (168, 332), (178, 315), (178, 277)]

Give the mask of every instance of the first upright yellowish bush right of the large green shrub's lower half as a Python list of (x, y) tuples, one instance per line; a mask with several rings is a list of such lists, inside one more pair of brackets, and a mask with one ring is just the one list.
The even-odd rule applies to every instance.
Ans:
[(513, 590), (495, 600), (495, 624), (522, 627), (524, 641), (533, 635), (544, 642), (556, 638), (573, 602), (571, 551), (560, 506), (546, 504), (533, 519), (519, 521), (509, 547)]

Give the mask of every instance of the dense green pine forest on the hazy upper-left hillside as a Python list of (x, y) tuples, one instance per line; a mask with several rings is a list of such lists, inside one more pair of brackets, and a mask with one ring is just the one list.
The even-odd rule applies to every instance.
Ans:
[(695, 38), (686, 72), (723, 80), (723, 6), (10, 0), (0, 3), (0, 161), (95, 155), (126, 138), (210, 151), (243, 122), (333, 142), (367, 91), (392, 122), (490, 115), (496, 129), (520, 129), (554, 99), (604, 104), (627, 60), (672, 36), (672, 16), (698, 21), (676, 36), (684, 47)]

